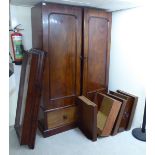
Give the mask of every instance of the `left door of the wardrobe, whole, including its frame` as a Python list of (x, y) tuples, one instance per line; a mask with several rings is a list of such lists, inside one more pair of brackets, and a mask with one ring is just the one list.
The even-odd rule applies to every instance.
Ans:
[(81, 8), (50, 3), (43, 6), (47, 109), (72, 105), (80, 95), (81, 19)]

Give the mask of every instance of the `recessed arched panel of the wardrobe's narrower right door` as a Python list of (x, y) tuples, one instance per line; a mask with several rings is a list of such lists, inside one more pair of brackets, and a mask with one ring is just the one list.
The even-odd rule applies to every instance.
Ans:
[(89, 18), (88, 91), (100, 89), (105, 85), (107, 30), (107, 20), (96, 17)]

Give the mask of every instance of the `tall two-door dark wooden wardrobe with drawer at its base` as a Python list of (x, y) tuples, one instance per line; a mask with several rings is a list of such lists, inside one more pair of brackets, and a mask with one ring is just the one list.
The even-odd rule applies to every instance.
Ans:
[(32, 8), (33, 48), (48, 53), (39, 113), (44, 137), (77, 126), (78, 96), (108, 88), (110, 27), (111, 13), (103, 10), (47, 2)]

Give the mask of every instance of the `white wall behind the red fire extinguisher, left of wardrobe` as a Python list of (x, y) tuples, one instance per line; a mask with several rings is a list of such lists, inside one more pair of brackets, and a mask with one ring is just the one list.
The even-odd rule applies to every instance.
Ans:
[[(12, 28), (18, 24), (22, 24), (21, 31), (23, 34), (24, 49), (32, 48), (32, 30), (31, 30), (31, 7), (21, 7), (11, 5), (11, 25)], [(10, 48), (11, 50), (11, 48)], [(14, 125), (19, 79), (20, 79), (21, 66), (14, 65), (14, 74), (9, 78), (9, 125)]]

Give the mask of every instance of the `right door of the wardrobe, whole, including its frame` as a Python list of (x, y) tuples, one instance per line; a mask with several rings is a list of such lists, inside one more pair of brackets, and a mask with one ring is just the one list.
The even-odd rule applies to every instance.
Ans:
[(108, 88), (111, 13), (85, 8), (83, 31), (82, 94), (94, 100)]

